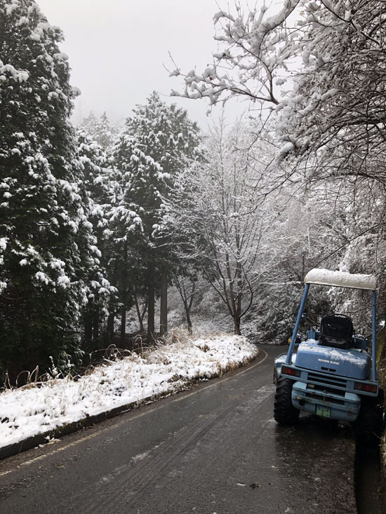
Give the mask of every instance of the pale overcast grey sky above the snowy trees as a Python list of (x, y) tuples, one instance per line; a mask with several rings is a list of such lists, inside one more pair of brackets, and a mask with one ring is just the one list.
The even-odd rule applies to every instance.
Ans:
[[(201, 72), (217, 48), (213, 15), (227, 8), (225, 0), (36, 0), (52, 25), (65, 34), (62, 51), (69, 55), (72, 85), (81, 89), (74, 122), (93, 110), (107, 111), (113, 121), (145, 103), (152, 90), (168, 102), (185, 107), (189, 117), (205, 128), (204, 100), (169, 99), (182, 90), (182, 79), (169, 78), (168, 52), (184, 71)], [(241, 4), (246, 0), (241, 0)], [(231, 0), (231, 5), (233, 1)], [(251, 1), (251, 4), (254, 4)], [(220, 6), (220, 7), (219, 7)], [(246, 109), (239, 102), (227, 109), (231, 121)], [(213, 111), (218, 118), (220, 107)]]

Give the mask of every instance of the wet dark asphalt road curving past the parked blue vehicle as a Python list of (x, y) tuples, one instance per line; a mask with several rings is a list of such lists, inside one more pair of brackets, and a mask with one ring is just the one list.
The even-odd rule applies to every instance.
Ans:
[(273, 359), (0, 462), (0, 513), (356, 513), (350, 428), (272, 419)]

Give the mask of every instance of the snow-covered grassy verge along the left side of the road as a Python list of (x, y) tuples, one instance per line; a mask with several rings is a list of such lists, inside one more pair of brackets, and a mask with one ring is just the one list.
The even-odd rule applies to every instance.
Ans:
[(0, 447), (144, 398), (174, 393), (192, 380), (208, 379), (247, 363), (257, 349), (245, 337), (228, 334), (177, 341), (106, 362), (73, 380), (0, 394)]

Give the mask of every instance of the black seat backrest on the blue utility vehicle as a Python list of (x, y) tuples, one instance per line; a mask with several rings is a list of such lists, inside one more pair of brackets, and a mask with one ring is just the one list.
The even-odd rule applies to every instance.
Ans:
[(347, 349), (352, 343), (352, 320), (342, 314), (324, 316), (320, 322), (319, 344)]

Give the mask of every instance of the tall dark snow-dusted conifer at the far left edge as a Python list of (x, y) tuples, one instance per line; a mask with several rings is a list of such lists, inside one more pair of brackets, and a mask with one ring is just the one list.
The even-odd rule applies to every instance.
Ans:
[(33, 0), (0, 0), (0, 367), (15, 373), (79, 350), (99, 269), (60, 41)]

